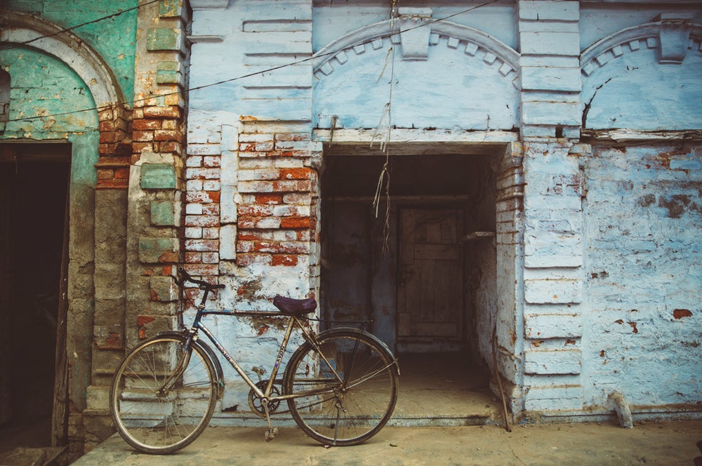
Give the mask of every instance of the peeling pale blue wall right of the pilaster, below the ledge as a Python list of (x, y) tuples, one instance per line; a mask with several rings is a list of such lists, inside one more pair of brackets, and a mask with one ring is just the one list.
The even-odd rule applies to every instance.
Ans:
[(597, 146), (585, 161), (584, 403), (699, 403), (699, 146)]

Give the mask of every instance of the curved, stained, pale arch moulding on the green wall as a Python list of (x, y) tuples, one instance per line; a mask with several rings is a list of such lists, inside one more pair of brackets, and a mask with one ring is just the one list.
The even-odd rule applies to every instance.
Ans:
[(79, 36), (37, 16), (18, 11), (0, 10), (0, 42), (25, 44), (49, 53), (80, 76), (90, 89), (95, 105), (120, 107), (124, 95), (112, 69)]

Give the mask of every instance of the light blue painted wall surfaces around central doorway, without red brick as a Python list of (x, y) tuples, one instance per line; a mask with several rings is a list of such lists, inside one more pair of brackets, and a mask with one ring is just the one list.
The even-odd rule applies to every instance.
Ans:
[[(294, 2), (286, 6), (299, 8), (296, 18), (303, 20), (289, 23), (273, 16), (289, 18), (291, 11), (274, 14), (273, 5), (241, 0), (194, 11), (193, 34), (205, 39), (196, 37), (192, 48), (192, 86), (281, 67), (191, 93), (190, 142), (198, 150), (226, 152), (232, 160), (223, 192), (236, 189), (236, 145), (211, 144), (208, 132), (237, 133), (240, 116), (246, 115), (273, 121), (269, 131), (329, 128), (332, 115), (342, 128), (375, 128), (390, 95), (390, 39), (375, 48), (366, 44), (317, 57), (314, 66), (309, 61), (284, 66), (311, 53), (336, 52), (331, 44), (350, 34), (371, 39), (368, 28), (388, 19), (387, 4), (314, 2), (312, 8)], [(461, 9), (449, 2), (420, 6), (431, 7), (432, 18)], [(428, 36), (427, 60), (403, 60), (403, 46), (395, 41), (392, 123), (397, 128), (444, 128), (450, 137), (513, 129), (524, 143), (524, 225), (518, 225), (524, 251), (514, 272), (519, 302), (508, 319), (497, 319), (498, 342), (517, 361), (507, 363), (517, 372), (508, 371), (517, 387), (516, 408), (607, 414), (607, 396), (614, 390), (637, 406), (702, 402), (702, 152), (699, 142), (659, 145), (640, 135), (702, 129), (702, 34), (692, 27), (684, 60), (661, 63), (658, 32), (636, 39), (638, 48), (622, 32), (661, 13), (685, 13), (702, 22), (697, 4), (498, 2), (451, 18), (453, 33), (439, 34), (437, 41)], [(470, 48), (479, 37), (482, 48)], [(583, 61), (590, 67), (581, 72), (579, 55), (610, 39), (613, 44)], [(497, 67), (485, 44), (494, 46)], [(616, 48), (622, 45), (629, 50)], [(598, 61), (592, 65), (592, 60)], [(505, 63), (515, 69), (503, 68)], [(639, 139), (625, 149), (604, 138), (594, 149), (580, 144), (585, 109), (585, 129), (623, 128)], [(556, 138), (564, 127), (565, 138)], [(411, 136), (407, 142), (414, 142)], [(240, 202), (232, 199), (231, 204)], [(682, 208), (679, 216), (670, 215), (675, 205)], [(263, 269), (237, 273), (249, 272), (255, 276)], [(298, 267), (295, 273), (300, 276), (263, 279), (272, 288), (294, 286), (309, 272)], [(502, 271), (496, 274), (499, 278)], [(675, 309), (691, 315), (680, 317), (678, 311), (675, 317)], [(479, 356), (491, 360), (488, 340), (484, 337), (485, 354)], [(271, 351), (272, 342), (262, 349)], [(671, 390), (673, 385), (682, 387), (682, 394)]]

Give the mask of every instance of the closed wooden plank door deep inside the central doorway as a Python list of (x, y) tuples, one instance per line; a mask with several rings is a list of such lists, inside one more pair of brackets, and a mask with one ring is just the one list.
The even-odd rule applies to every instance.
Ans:
[(458, 339), (463, 328), (463, 213), (403, 208), (400, 213), (397, 336)]

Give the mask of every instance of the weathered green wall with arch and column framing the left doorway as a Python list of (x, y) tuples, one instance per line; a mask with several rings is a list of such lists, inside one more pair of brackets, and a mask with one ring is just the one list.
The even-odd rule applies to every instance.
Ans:
[[(128, 173), (124, 156), (137, 15), (124, 11), (136, 4), (3, 4), (11, 10), (2, 14), (0, 39), (12, 91), (10, 121), (2, 137), (68, 140), (72, 145), (65, 342), (72, 458), (84, 452), (86, 439), (100, 441), (111, 433), (84, 414), (95, 408), (91, 385), (100, 377), (109, 381), (124, 347), (126, 196), (120, 188), (126, 187)], [(22, 119), (32, 116), (44, 117)], [(106, 411), (107, 406), (100, 408)], [(62, 427), (57, 427), (55, 434), (62, 437)]]

